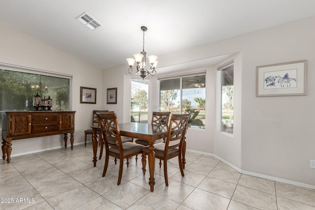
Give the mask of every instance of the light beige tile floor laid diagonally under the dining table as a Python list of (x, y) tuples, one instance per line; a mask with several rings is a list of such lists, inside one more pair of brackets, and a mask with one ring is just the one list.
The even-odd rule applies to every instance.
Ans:
[[(185, 177), (168, 162), (169, 186), (156, 162), (154, 192), (139, 158), (92, 162), (92, 145), (15, 156), (0, 162), (1, 210), (315, 210), (315, 190), (240, 174), (212, 156), (187, 152)], [(126, 162), (126, 160), (125, 160)], [(148, 166), (147, 166), (148, 167)], [(163, 167), (162, 167), (163, 168)]]

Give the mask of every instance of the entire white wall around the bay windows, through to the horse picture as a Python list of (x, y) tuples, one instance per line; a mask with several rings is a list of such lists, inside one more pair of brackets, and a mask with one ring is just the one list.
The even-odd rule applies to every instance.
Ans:
[[(214, 124), (214, 127), (205, 131), (189, 129), (188, 149), (213, 153), (244, 173), (315, 188), (315, 169), (310, 168), (310, 159), (315, 159), (312, 132), (315, 127), (312, 112), (315, 83), (310, 79), (315, 78), (314, 25), (315, 17), (312, 17), (159, 56), (159, 66), (169, 66), (237, 53), (234, 58), (234, 135), (221, 134), (217, 121), (211, 122), (207, 116), (207, 124), (210, 122), (209, 125)], [(306, 96), (255, 96), (256, 66), (296, 60), (308, 60)], [(216, 67), (205, 67), (207, 82), (216, 80), (212, 78), (216, 77)], [(123, 110), (120, 118), (125, 121), (129, 118), (124, 115), (130, 104), (130, 85), (126, 83), (128, 87), (125, 87), (122, 81), (123, 75), (125, 82), (128, 81), (126, 72), (127, 65), (124, 65), (105, 70), (103, 75), (103, 91), (113, 87), (119, 90), (118, 104), (105, 104), (103, 108), (121, 113)], [(157, 87), (151, 88), (156, 90), (150, 89), (150, 92), (158, 94)], [(215, 94), (218, 94), (212, 92), (212, 88), (216, 88), (216, 83), (208, 82), (207, 115), (212, 115), (211, 118), (217, 115), (213, 113), (216, 108), (209, 99), (215, 100)], [(152, 102), (157, 103), (155, 100)]]

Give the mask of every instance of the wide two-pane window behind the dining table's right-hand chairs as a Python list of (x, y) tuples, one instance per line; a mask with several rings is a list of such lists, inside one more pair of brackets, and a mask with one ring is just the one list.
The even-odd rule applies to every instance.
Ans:
[(204, 129), (206, 119), (206, 75), (160, 80), (160, 111), (191, 114), (189, 127)]

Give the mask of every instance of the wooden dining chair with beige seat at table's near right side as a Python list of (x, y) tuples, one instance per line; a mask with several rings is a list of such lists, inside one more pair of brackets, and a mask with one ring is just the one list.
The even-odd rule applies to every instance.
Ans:
[[(168, 186), (167, 160), (178, 156), (179, 168), (180, 168), (182, 176), (184, 177), (184, 169), (183, 169), (183, 163), (182, 163), (182, 150), (183, 150), (183, 143), (185, 140), (189, 118), (190, 118), (190, 114), (171, 115), (171, 120), (168, 125), (165, 143), (158, 143), (154, 145), (154, 152), (155, 152), (156, 158), (158, 158), (159, 160), (163, 160), (163, 163), (164, 163), (164, 180), (165, 180), (166, 186)], [(143, 153), (142, 153), (143, 175), (145, 175), (145, 172), (146, 172), (146, 163), (147, 163), (146, 155), (149, 154), (149, 152), (150, 150), (148, 146), (143, 148)]]

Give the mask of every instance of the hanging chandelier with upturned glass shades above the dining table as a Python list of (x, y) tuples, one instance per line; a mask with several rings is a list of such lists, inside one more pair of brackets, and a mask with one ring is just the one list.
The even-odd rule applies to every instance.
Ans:
[[(158, 57), (151, 55), (148, 56), (149, 59), (149, 63), (151, 65), (150, 69), (147, 68), (147, 58), (146, 58), (146, 54), (147, 52), (144, 51), (144, 32), (148, 30), (147, 27), (145, 26), (141, 26), (141, 30), (143, 31), (143, 49), (140, 52), (140, 54), (134, 54), (132, 58), (126, 59), (129, 65), (129, 69), (128, 72), (129, 74), (136, 74), (136, 73), (140, 73), (140, 77), (142, 77), (142, 79), (144, 79), (147, 75), (156, 75), (157, 71), (156, 71), (156, 67), (158, 64)], [(133, 69), (133, 64), (134, 62), (137, 63), (137, 70)]]

